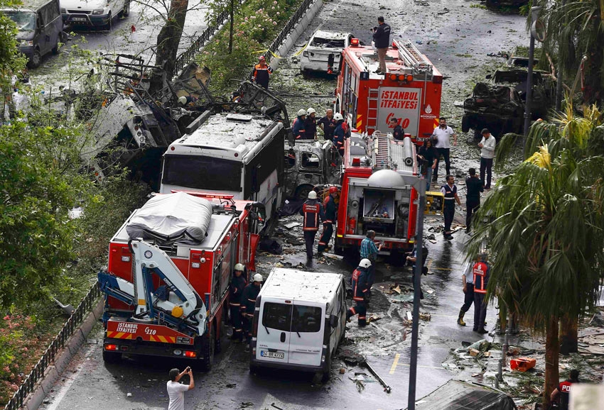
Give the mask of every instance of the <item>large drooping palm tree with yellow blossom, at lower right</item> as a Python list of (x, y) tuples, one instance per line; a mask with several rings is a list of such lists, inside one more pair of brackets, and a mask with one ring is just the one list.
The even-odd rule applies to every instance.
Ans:
[[(595, 306), (604, 277), (602, 116), (594, 106), (578, 118), (567, 106), (555, 122), (533, 124), (527, 158), (487, 196), (467, 245), (471, 257), (488, 243), (489, 294), (546, 335), (546, 405), (559, 383), (559, 320)], [(499, 165), (514, 138), (502, 139)]]

